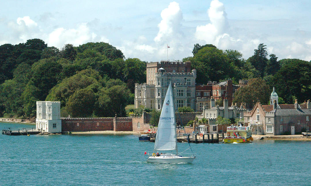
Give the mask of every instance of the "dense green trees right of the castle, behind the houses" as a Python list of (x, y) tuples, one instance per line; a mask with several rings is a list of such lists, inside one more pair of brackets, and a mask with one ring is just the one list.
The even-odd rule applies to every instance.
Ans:
[(233, 100), (238, 104), (246, 103), (248, 108), (257, 101), (267, 104), (273, 87), (278, 93), (279, 104), (311, 99), (311, 63), (299, 59), (277, 61), (275, 54), (270, 54), (268, 59), (263, 43), (247, 60), (239, 51), (220, 50), (211, 44), (195, 44), (192, 53), (193, 57), (183, 61), (191, 61), (192, 68), (197, 69), (197, 83), (232, 79), (238, 84), (239, 79), (250, 79), (247, 86), (237, 89)]

